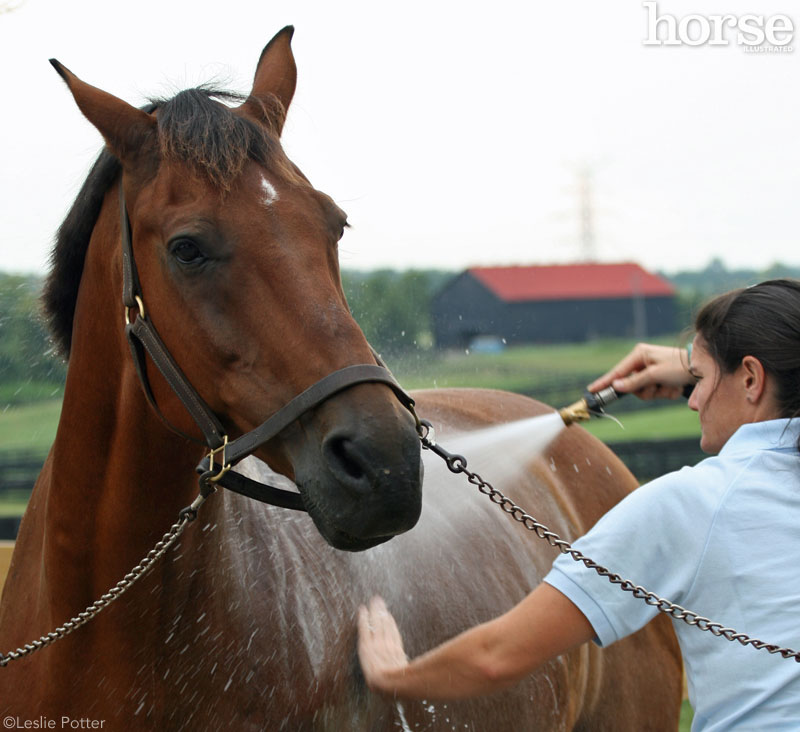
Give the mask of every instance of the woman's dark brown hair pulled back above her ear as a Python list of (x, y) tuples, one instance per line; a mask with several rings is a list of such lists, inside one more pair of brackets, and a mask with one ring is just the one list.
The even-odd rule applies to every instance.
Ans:
[(800, 416), (800, 281), (767, 280), (707, 303), (695, 330), (722, 373), (757, 358), (775, 384), (781, 417)]

